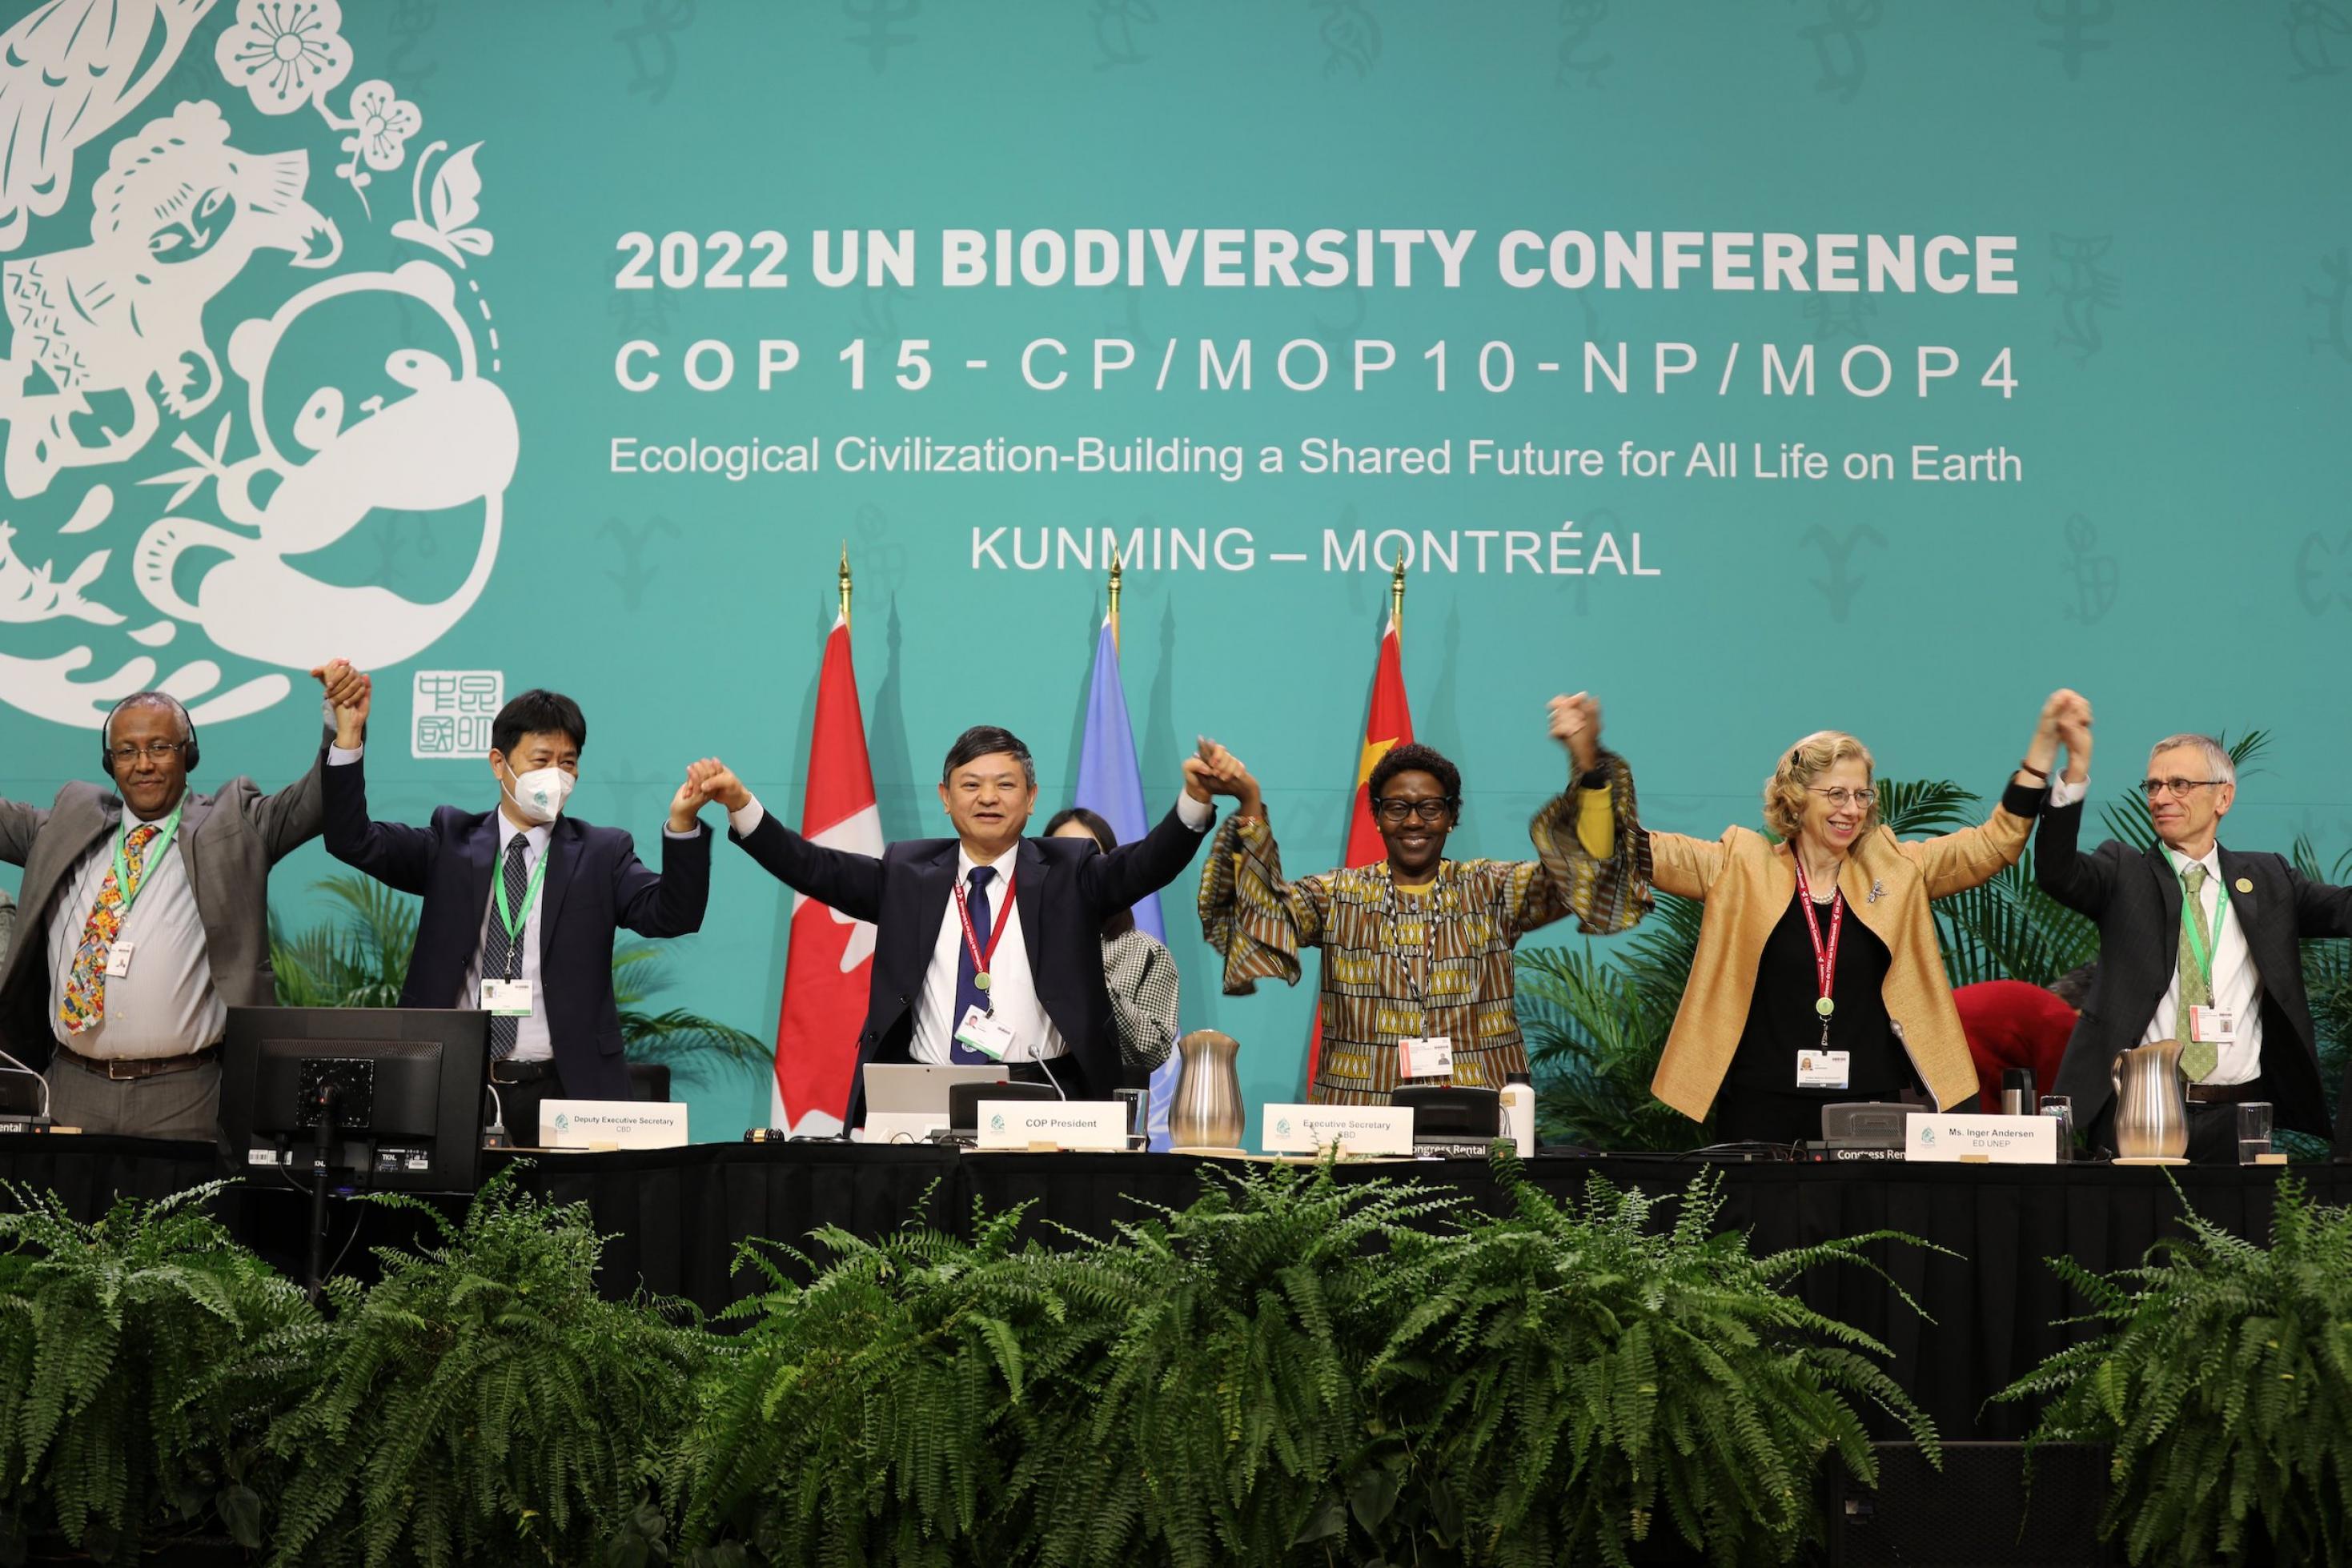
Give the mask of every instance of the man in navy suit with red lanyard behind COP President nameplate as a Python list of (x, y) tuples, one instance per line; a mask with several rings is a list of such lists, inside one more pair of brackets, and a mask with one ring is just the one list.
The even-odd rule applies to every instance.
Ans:
[(1073, 1100), (1108, 1098), (1120, 1046), (1103, 917), (1181, 877), (1216, 823), (1209, 795), (1232, 792), (1188, 757), (1176, 809), (1134, 844), (1103, 853), (1091, 839), (1030, 839), (1037, 764), (1011, 731), (978, 724), (938, 771), (955, 837), (891, 844), (877, 860), (800, 837), (715, 762), (694, 778), (779, 882), (877, 926), (844, 1124), (858, 1121), (866, 1063), (997, 1060)]

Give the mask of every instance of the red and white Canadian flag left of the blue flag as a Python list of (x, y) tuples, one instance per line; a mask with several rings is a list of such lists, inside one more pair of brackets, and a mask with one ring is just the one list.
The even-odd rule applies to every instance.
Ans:
[[(866, 762), (866, 719), (858, 715), (858, 672), (849, 661), (847, 616), (835, 621), (826, 637), (800, 837), (858, 856), (882, 853), (882, 813), (875, 809), (875, 771)], [(769, 1126), (818, 1138), (842, 1131), (849, 1079), (858, 1065), (858, 1025), (866, 1023), (866, 971), (873, 957), (870, 924), (849, 919), (807, 893), (793, 896), (793, 945), (783, 961), (783, 1006), (776, 1016), (776, 1098)]]

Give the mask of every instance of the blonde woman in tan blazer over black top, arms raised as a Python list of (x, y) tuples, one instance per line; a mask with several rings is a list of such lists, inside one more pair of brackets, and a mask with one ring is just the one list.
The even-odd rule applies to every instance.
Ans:
[[(1973, 1103), (1976, 1067), (1952, 1006), (1929, 900), (2016, 863), (2049, 795), (2058, 691), (2002, 804), (1978, 827), (1903, 842), (1879, 823), (1870, 750), (1825, 729), (1764, 783), (1764, 823), (1722, 839), (1651, 832), (1649, 879), (1705, 900), (1698, 957), (1651, 1093), (1724, 1143), (1820, 1135), (1830, 1100), (1926, 1088)], [(2089, 705), (2084, 705), (2089, 708)]]

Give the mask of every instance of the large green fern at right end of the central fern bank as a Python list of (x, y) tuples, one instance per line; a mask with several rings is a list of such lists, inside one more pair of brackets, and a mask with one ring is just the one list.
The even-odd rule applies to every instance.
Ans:
[(1879, 1272), (1863, 1248), (1907, 1237), (1755, 1258), (1717, 1225), (1715, 1175), (1679, 1199), (1592, 1178), (1569, 1204), (1510, 1161), (1503, 1180), (1508, 1215), (1397, 1239), (1418, 1284), (1367, 1368), (1465, 1561), (1623, 1566), (1670, 1526), (1724, 1568), (1785, 1563), (1823, 1540), (1825, 1462), (1877, 1474), (1856, 1401), (1936, 1458), (1933, 1425), (1872, 1359), (1886, 1347), (1788, 1293), (1820, 1265)]

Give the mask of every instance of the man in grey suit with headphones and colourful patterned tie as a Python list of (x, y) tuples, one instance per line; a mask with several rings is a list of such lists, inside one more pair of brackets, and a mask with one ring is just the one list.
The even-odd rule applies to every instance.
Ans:
[(101, 743), (118, 792), (0, 799), (0, 860), (24, 867), (0, 1046), (47, 1063), (59, 1126), (212, 1138), (228, 1009), (275, 999), (268, 879), (320, 832), (318, 764), (278, 795), (191, 795), (195, 724), (162, 691), (122, 698)]

